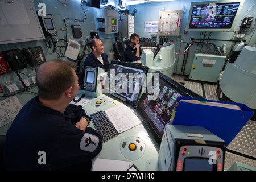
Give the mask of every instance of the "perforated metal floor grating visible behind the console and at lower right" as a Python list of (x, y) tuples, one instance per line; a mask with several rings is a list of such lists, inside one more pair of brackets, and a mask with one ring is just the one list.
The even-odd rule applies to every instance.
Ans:
[[(209, 82), (185, 80), (185, 76), (173, 75), (172, 80), (179, 82), (193, 92), (208, 100), (218, 101), (217, 84)], [(249, 120), (227, 147), (225, 169), (229, 169), (236, 161), (256, 167), (256, 121)]]

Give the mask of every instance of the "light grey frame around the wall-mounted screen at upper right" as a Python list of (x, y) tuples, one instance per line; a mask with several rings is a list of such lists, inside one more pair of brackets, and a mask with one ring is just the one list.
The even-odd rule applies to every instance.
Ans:
[[(222, 1), (203, 1), (203, 2), (191, 2), (191, 6), (190, 6), (190, 10), (189, 10), (189, 14), (188, 14), (188, 22), (187, 22), (187, 26), (186, 26), (186, 31), (200, 31), (200, 32), (233, 32), (234, 28), (236, 27), (236, 23), (238, 20), (238, 17), (240, 16), (240, 12), (243, 6), (245, 0), (222, 0)], [(232, 26), (230, 28), (189, 28), (189, 24), (190, 24), (190, 20), (191, 20), (191, 15), (192, 15), (192, 11), (193, 11), (193, 5), (207, 5), (209, 3), (216, 3), (216, 4), (220, 4), (220, 3), (236, 3), (239, 2), (240, 5), (238, 7), (236, 16), (234, 18), (234, 21), (232, 23)]]

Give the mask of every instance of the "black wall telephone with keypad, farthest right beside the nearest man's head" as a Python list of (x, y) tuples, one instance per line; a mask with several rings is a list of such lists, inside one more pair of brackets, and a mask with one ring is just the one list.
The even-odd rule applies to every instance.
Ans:
[(44, 57), (44, 52), (41, 46), (23, 48), (22, 51), (31, 66), (36, 66), (46, 62), (46, 58)]

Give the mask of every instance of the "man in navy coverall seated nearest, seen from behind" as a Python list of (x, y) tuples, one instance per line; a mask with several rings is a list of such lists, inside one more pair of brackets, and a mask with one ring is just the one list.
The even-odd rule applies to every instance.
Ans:
[(22, 107), (6, 134), (7, 170), (91, 169), (102, 137), (88, 127), (82, 106), (69, 104), (79, 91), (73, 67), (65, 60), (40, 65), (38, 96)]

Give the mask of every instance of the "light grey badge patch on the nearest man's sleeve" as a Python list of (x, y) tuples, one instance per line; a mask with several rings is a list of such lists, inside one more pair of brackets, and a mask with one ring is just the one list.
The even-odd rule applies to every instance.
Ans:
[(97, 136), (85, 133), (80, 142), (80, 149), (93, 152), (98, 147), (99, 139)]

